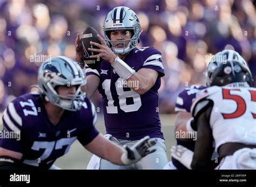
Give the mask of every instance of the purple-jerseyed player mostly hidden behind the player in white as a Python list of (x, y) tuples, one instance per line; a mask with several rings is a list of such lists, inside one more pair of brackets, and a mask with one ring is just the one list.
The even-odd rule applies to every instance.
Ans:
[[(239, 59), (239, 61), (244, 61), (244, 58), (237, 52), (230, 50), (230, 49), (225, 49), (223, 50), (221, 53), (219, 54), (223, 54), (226, 53), (228, 59), (233, 59), (233, 58), (237, 58)], [(220, 56), (221, 57), (221, 56)], [(219, 58), (220, 58), (219, 57)], [(246, 63), (245, 63), (246, 64)], [(212, 62), (208, 64), (207, 67), (207, 74), (211, 74), (212, 71)], [(210, 84), (207, 82), (206, 86), (210, 86)], [(174, 132), (177, 134), (179, 134), (180, 132), (190, 132), (195, 133), (194, 131), (194, 127), (193, 127), (193, 117), (191, 114), (191, 106), (193, 103), (193, 100), (196, 98), (196, 95), (198, 92), (200, 92), (201, 90), (207, 88), (206, 86), (203, 85), (192, 85), (191, 87), (186, 88), (185, 90), (181, 91), (179, 93), (179, 96), (177, 98), (176, 101), (176, 107), (175, 107), (175, 111), (178, 112), (177, 113), (177, 119), (175, 122), (175, 130)], [(194, 145), (196, 143), (196, 140), (194, 138), (182, 138), (182, 137), (176, 137), (177, 140), (177, 145), (181, 145), (186, 147), (187, 149), (190, 149), (192, 151), (194, 151)], [(217, 166), (215, 163), (215, 158), (218, 157), (217, 154), (214, 153), (212, 159), (214, 160), (214, 162), (212, 162), (212, 166), (213, 168), (215, 166)], [(186, 170), (188, 169), (187, 167), (185, 167), (182, 163), (180, 163), (177, 159), (175, 159), (175, 156), (172, 156), (172, 161), (169, 162), (168, 164), (166, 164), (166, 166), (164, 167), (164, 169), (183, 169)]]

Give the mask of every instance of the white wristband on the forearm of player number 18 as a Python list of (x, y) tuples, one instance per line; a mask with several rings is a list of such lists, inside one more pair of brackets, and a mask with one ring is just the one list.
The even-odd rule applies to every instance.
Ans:
[(114, 63), (112, 63), (111, 66), (114, 68), (114, 71), (116, 71), (119, 77), (123, 78), (124, 81), (126, 81), (135, 73), (135, 70), (132, 69), (127, 63), (125, 63), (118, 56), (114, 59)]

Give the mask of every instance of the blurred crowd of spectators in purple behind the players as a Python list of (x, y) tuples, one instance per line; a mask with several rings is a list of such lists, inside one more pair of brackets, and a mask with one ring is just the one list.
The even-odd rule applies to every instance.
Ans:
[[(103, 36), (104, 18), (116, 6), (137, 13), (143, 30), (138, 47), (154, 46), (163, 55), (161, 113), (174, 112), (184, 88), (205, 85), (207, 63), (225, 48), (240, 53), (255, 77), (253, 0), (0, 0), (0, 111), (30, 91), (49, 56), (75, 59), (77, 33), (92, 26)], [(100, 106), (99, 94), (93, 102)]]

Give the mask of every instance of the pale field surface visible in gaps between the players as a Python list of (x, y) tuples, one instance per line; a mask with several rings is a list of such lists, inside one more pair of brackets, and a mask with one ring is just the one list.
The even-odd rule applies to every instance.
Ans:
[[(0, 130), (2, 130), (2, 114), (0, 114)], [(162, 131), (165, 137), (165, 146), (167, 149), (168, 159), (171, 159), (170, 148), (175, 145), (174, 139), (174, 121), (176, 119), (175, 114), (161, 114), (160, 115)], [(105, 134), (105, 126), (103, 116), (98, 116), (96, 128), (103, 134)], [(70, 147), (69, 152), (60, 157), (55, 165), (62, 169), (86, 169), (87, 163), (89, 163), (92, 154), (87, 151), (80, 143), (76, 140)]]

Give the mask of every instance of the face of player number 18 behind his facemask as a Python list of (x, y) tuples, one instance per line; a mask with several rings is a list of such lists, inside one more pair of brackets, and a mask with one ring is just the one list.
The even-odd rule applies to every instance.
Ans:
[[(132, 32), (129, 30), (115, 30), (110, 32), (110, 40), (127, 40), (127, 39), (131, 39), (131, 37), (132, 37)], [(124, 46), (124, 42), (114, 41), (113, 47), (124, 48), (124, 47), (127, 47), (129, 42), (130, 40), (125, 41), (125, 46)]]

